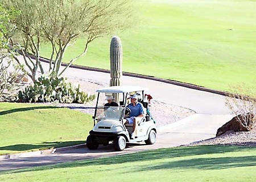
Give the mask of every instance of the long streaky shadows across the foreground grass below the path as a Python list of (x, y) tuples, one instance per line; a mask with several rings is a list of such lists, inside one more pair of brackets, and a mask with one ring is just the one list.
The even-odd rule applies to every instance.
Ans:
[[(130, 162), (147, 162), (158, 159), (166, 159), (166, 162), (156, 163), (154, 166), (145, 164), (134, 168), (134, 171), (148, 171), (148, 170), (164, 170), (171, 168), (199, 168), (199, 169), (223, 169), (232, 167), (245, 167), (256, 166), (256, 156), (238, 156), (238, 157), (221, 157), (209, 158), (205, 156), (196, 156), (204, 154), (224, 154), (229, 152), (241, 152), (255, 150), (252, 147), (240, 146), (193, 146), (193, 147), (175, 147), (168, 149), (158, 149), (152, 151), (143, 151), (139, 153), (117, 155), (109, 158), (97, 158), (79, 160), (76, 162), (55, 164), (51, 166), (44, 166), (38, 168), (23, 169), (13, 172), (24, 171), (42, 171), (56, 168), (72, 168), (72, 167), (85, 167), (85, 166), (98, 166), (110, 164), (125, 164)], [(192, 159), (177, 159), (186, 156), (192, 156)], [(175, 161), (170, 161), (171, 158), (176, 158)], [(134, 172), (131, 171), (131, 172)]]

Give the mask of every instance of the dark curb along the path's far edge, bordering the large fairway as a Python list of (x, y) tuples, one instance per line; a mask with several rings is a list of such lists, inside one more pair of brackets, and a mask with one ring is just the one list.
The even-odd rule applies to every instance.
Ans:
[[(28, 54), (28, 56), (30, 56), (34, 60), (36, 59), (36, 57), (32, 54)], [(42, 62), (46, 62), (46, 63), (50, 62), (49, 59), (44, 58), (44, 57), (39, 57), (39, 60), (42, 61)], [(66, 64), (64, 62), (61, 62), (61, 66), (67, 66), (67, 65), (68, 64)], [(76, 68), (76, 69), (81, 69), (81, 70), (97, 71), (97, 72), (102, 72), (102, 73), (110, 73), (110, 70), (101, 69), (101, 68), (97, 68), (97, 67), (80, 66), (80, 65), (74, 65), (74, 64), (70, 65), (69, 67)], [(214, 89), (206, 88), (206, 87), (203, 87), (203, 86), (197, 86), (195, 84), (189, 84), (189, 83), (174, 81), (172, 79), (156, 78), (154, 76), (148, 76), (148, 75), (142, 75), (142, 74), (136, 74), (136, 73), (129, 73), (129, 72), (125, 72), (125, 71), (123, 71), (123, 75), (124, 76), (129, 76), (129, 77), (150, 79), (152, 81), (174, 84), (176, 86), (191, 88), (191, 89), (194, 89), (194, 90), (206, 91), (206, 92), (210, 92), (210, 93), (218, 94), (218, 95), (224, 95), (224, 96), (229, 96), (230, 95), (229, 92), (214, 90)]]

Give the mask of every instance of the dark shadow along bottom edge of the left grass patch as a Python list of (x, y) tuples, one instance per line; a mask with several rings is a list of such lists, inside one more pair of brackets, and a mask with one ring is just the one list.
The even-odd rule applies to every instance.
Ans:
[(43, 142), (39, 144), (16, 144), (0, 147), (1, 150), (11, 150), (11, 151), (35, 151), (35, 150), (44, 150), (44, 149), (54, 149), (57, 147), (65, 147), (78, 145), (85, 143), (85, 141), (67, 141), (67, 142)]

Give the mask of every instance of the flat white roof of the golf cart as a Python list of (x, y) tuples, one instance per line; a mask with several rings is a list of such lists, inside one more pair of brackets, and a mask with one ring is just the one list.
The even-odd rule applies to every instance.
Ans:
[(96, 92), (104, 92), (104, 93), (127, 93), (134, 91), (144, 91), (147, 88), (140, 86), (112, 86), (112, 87), (104, 87), (96, 90)]

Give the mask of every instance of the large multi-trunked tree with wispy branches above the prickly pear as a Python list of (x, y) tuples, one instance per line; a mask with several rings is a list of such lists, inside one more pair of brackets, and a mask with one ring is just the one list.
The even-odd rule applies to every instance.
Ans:
[[(84, 56), (88, 45), (98, 37), (109, 35), (131, 26), (133, 2), (131, 0), (0, 0), (6, 8), (15, 8), (20, 15), (13, 21), (15, 33), (10, 34), (13, 45), (20, 51), (30, 70), (33, 81), (40, 64), (40, 45), (51, 45), (49, 73), (57, 75), (69, 67), (77, 58)], [(60, 71), (65, 50), (77, 39), (84, 39), (84, 51), (69, 61)], [(33, 60), (29, 53), (36, 57)], [(19, 61), (16, 59), (16, 61)]]

